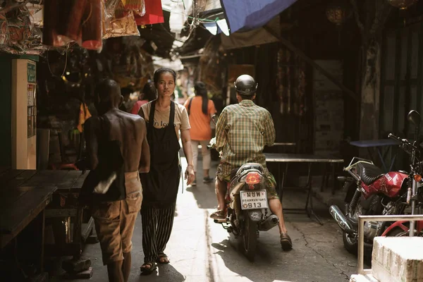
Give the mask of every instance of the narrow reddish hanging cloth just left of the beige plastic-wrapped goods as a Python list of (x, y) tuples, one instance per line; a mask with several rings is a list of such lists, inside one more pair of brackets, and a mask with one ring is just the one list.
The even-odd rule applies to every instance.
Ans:
[(102, 41), (102, 0), (88, 0), (85, 6), (85, 21), (82, 23), (82, 47), (89, 50), (101, 50)]

